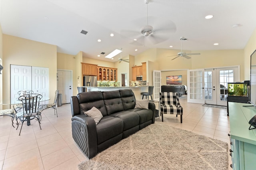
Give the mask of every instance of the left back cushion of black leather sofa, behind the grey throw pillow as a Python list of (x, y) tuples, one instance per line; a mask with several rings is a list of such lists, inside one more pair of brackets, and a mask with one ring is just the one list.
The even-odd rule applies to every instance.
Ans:
[(77, 98), (80, 107), (80, 114), (84, 114), (85, 111), (92, 109), (92, 107), (96, 107), (100, 110), (102, 116), (107, 115), (101, 91), (78, 93)]

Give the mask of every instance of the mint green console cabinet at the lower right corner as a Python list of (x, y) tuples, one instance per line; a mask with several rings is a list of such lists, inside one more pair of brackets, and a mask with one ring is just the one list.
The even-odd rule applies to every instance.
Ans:
[(256, 169), (256, 129), (249, 130), (249, 121), (256, 107), (246, 103), (229, 102), (230, 155), (234, 170)]

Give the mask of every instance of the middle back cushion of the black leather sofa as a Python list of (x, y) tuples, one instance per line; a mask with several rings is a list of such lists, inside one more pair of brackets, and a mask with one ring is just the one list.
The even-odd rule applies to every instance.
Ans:
[(124, 110), (119, 90), (102, 91), (102, 95), (108, 115)]

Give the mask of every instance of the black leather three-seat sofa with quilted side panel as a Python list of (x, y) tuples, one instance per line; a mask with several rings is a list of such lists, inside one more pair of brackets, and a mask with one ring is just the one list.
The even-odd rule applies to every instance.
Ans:
[[(89, 159), (155, 122), (154, 103), (149, 102), (148, 109), (134, 109), (136, 99), (131, 89), (78, 93), (70, 98), (70, 104), (72, 136)], [(103, 116), (97, 125), (84, 114), (92, 107)]]

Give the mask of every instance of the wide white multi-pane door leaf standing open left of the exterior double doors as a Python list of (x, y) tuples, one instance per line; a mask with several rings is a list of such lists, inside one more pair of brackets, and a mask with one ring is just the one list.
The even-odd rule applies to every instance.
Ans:
[(204, 103), (204, 69), (188, 70), (188, 102)]

